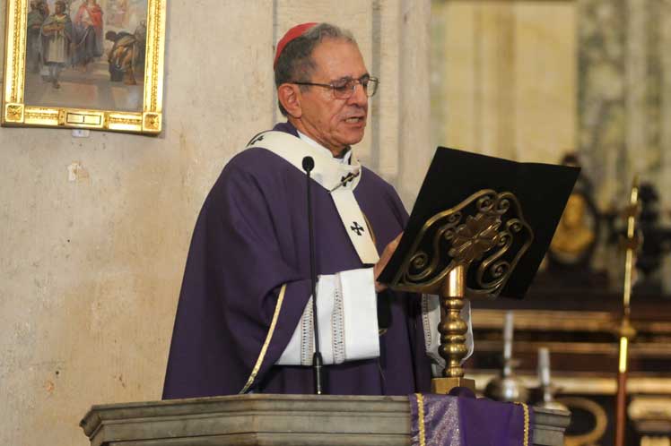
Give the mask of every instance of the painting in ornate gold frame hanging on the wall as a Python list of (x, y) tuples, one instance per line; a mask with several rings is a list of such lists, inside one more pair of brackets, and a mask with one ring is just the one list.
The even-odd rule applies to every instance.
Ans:
[(167, 0), (7, 0), (2, 124), (161, 132)]

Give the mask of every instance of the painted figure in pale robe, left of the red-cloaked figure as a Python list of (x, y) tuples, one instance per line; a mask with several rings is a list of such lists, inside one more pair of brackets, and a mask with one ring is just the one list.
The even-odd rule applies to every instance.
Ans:
[(70, 43), (72, 42), (72, 21), (65, 13), (65, 2), (58, 0), (56, 11), (49, 15), (40, 30), (42, 62), (47, 68), (46, 80), (55, 89), (60, 88), (58, 76), (70, 62)]

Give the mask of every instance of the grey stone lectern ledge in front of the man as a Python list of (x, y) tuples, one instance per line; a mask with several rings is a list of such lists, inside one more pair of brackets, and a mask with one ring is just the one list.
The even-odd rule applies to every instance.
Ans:
[[(533, 444), (562, 445), (566, 412), (535, 410)], [(407, 397), (247, 394), (93, 406), (92, 446), (409, 446)], [(464, 445), (468, 446), (468, 445)]]

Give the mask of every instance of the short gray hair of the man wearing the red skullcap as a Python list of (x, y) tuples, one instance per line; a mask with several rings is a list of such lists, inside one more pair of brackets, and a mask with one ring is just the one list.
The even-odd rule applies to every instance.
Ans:
[[(312, 59), (312, 52), (319, 43), (326, 39), (344, 40), (357, 45), (350, 31), (343, 30), (330, 23), (319, 23), (284, 47), (274, 68), (275, 88), (279, 88), (283, 83), (309, 81), (310, 76), (317, 68)], [(306, 87), (301, 85), (301, 89), (304, 88)], [(280, 107), (283, 116), (287, 116), (287, 111), (279, 99), (277, 99), (277, 105)]]

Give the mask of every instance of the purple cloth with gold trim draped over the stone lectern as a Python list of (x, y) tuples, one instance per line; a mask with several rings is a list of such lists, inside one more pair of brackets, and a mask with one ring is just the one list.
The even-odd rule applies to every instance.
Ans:
[(422, 446), (523, 446), (525, 438), (532, 444), (531, 407), (525, 435), (524, 407), (518, 404), (427, 393), (421, 395), (421, 419), (418, 396), (408, 399), (412, 446), (422, 444), (422, 427)]

